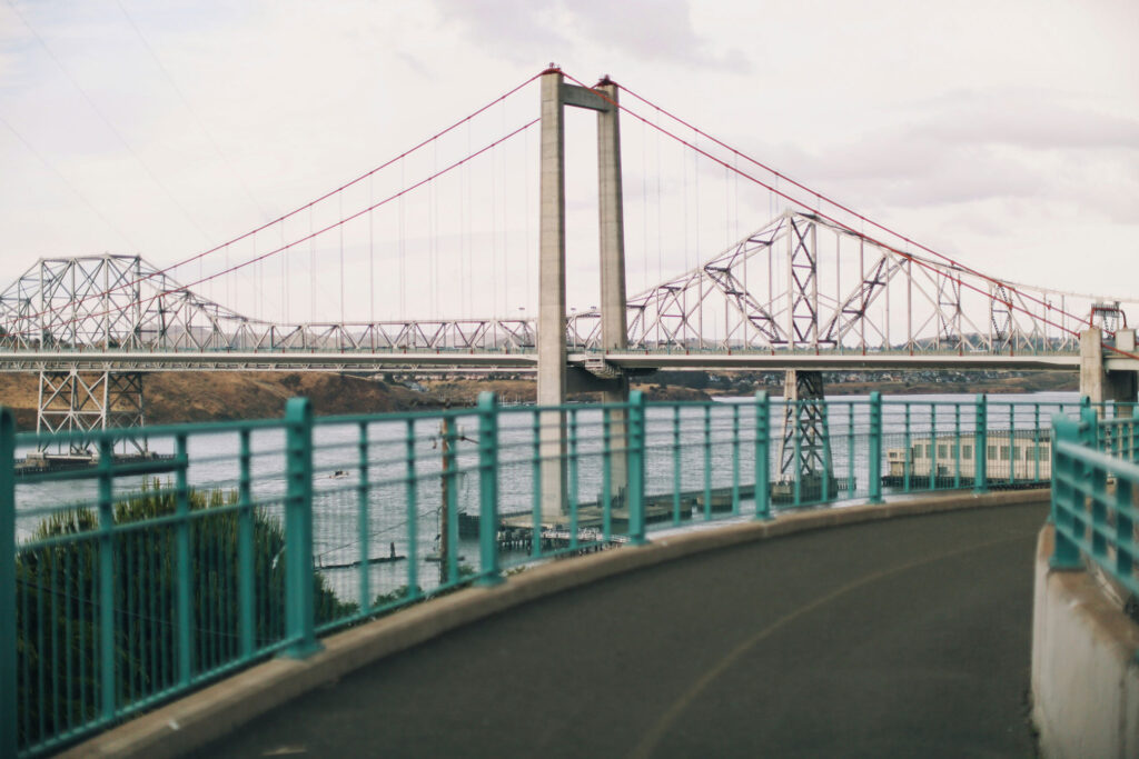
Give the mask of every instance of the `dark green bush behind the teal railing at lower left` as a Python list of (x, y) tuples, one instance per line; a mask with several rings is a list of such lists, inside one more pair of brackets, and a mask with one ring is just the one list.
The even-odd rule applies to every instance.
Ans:
[[(237, 493), (188, 494), (191, 676), (241, 659)], [(115, 700), (120, 706), (179, 684), (177, 496), (155, 481), (115, 504), (113, 537)], [(216, 513), (211, 513), (212, 511)], [(254, 651), (285, 635), (285, 535), (252, 512)], [(137, 526), (133, 528), (126, 526)], [(98, 718), (103, 671), (99, 525), (93, 509), (40, 523), (16, 555), (19, 742), (38, 743)], [(355, 613), (314, 576), (317, 624)]]

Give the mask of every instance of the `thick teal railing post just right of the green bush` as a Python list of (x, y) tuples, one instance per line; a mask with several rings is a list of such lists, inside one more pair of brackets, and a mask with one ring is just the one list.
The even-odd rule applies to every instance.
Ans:
[(289, 398), (285, 404), (285, 635), (284, 654), (303, 659), (322, 646), (316, 636), (312, 570), (312, 404)]

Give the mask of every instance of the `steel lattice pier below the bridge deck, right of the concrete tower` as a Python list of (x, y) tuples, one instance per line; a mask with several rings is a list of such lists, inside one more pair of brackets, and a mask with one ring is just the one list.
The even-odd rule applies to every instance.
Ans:
[(784, 381), (784, 432), (779, 451), (779, 501), (825, 501), (838, 494), (830, 459), (822, 372), (788, 370)]

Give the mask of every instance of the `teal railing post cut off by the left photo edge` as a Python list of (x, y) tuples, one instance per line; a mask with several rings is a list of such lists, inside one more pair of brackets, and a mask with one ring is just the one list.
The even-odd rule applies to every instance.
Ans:
[(16, 421), (0, 407), (0, 756), (16, 734)]

